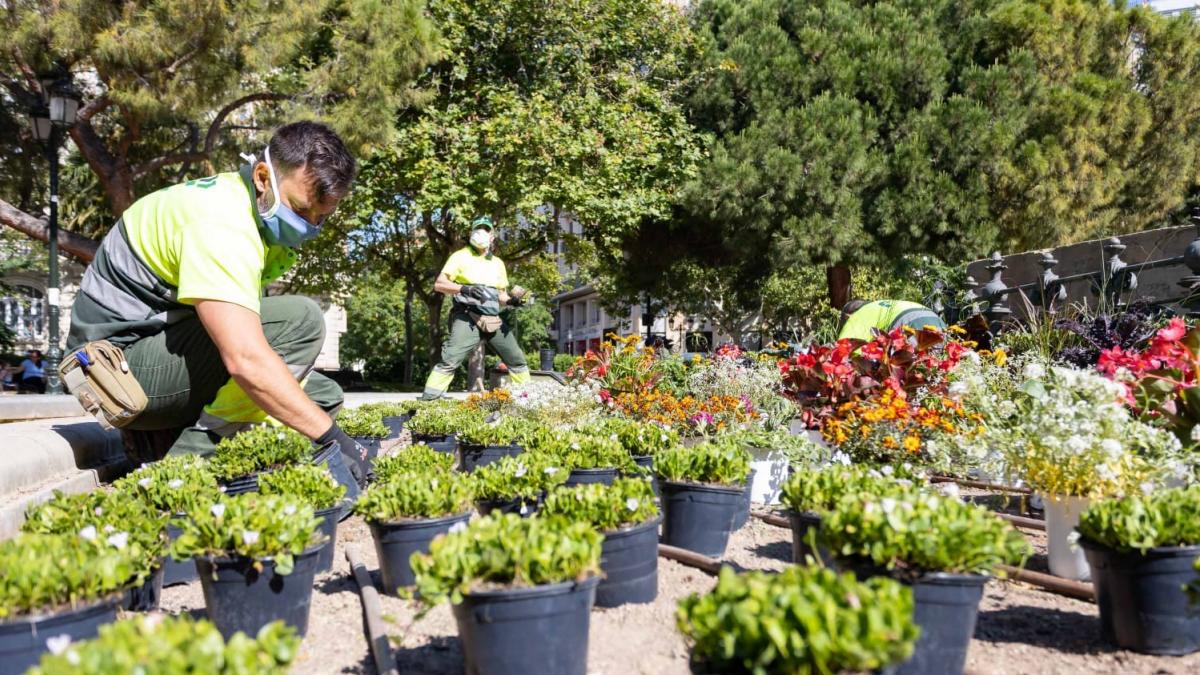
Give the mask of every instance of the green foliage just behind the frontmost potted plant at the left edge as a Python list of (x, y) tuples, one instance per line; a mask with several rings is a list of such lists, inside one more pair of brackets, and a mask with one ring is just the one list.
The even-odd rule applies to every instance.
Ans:
[(145, 579), (158, 567), (167, 545), (167, 514), (120, 491), (65, 495), (59, 490), (25, 512), (22, 532), (78, 536), (126, 550), (137, 562), (134, 577)]

